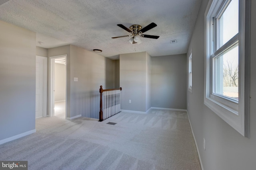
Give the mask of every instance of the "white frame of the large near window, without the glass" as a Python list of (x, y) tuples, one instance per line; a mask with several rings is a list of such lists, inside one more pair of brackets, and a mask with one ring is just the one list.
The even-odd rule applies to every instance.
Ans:
[[(230, 0), (209, 0), (205, 12), (205, 78), (204, 104), (220, 116), (226, 123), (236, 129), (244, 137), (249, 137), (249, 80), (250, 80), (250, 0), (239, 0), (239, 33), (230, 39), (228, 44), (238, 41), (239, 48), (239, 80), (238, 101), (225, 96), (213, 94), (214, 82), (212, 79), (214, 55), (214, 23), (213, 18), (218, 16)], [(231, 42), (232, 41), (232, 42)], [(216, 51), (218, 53), (218, 50)]]

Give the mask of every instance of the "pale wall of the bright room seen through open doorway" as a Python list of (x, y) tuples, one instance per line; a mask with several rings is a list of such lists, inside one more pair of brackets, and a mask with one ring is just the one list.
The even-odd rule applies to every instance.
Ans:
[(55, 63), (54, 101), (66, 100), (66, 65)]

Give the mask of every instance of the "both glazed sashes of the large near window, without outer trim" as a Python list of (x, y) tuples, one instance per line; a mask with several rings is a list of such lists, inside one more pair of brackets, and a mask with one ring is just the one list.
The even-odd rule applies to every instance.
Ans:
[(213, 17), (212, 94), (238, 102), (238, 0)]

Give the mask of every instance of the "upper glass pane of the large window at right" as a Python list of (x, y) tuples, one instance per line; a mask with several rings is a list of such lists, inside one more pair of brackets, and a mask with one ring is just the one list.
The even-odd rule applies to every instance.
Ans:
[(238, 0), (232, 0), (219, 18), (219, 47), (238, 33)]

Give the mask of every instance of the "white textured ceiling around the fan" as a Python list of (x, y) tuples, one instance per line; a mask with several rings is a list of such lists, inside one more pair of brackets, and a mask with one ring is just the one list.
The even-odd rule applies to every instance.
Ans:
[[(86, 50), (101, 49), (105, 57), (146, 51), (151, 56), (186, 53), (201, 0), (9, 0), (0, 5), (0, 20), (36, 32), (37, 46), (72, 44)], [(130, 35), (116, 24), (157, 27), (146, 31), (158, 39), (141, 38), (130, 44)], [(171, 44), (170, 40), (177, 40)]]

